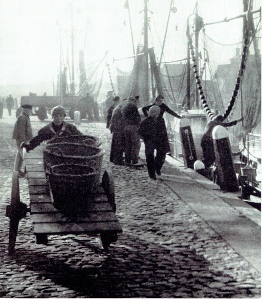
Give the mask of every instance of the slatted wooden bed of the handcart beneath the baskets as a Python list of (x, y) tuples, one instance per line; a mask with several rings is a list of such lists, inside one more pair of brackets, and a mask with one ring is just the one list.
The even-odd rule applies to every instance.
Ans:
[(39, 237), (37, 243), (44, 243), (40, 240), (41, 235), (122, 232), (114, 208), (101, 184), (92, 193), (88, 210), (83, 211), (80, 206), (76, 206), (73, 216), (65, 215), (52, 204), (41, 153), (27, 153), (25, 167), (33, 233)]

